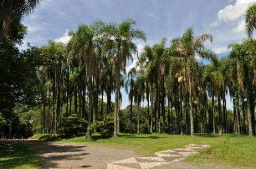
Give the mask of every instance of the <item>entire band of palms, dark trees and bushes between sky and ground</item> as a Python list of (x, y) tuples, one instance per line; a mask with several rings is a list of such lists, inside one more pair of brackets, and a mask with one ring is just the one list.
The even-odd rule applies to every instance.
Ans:
[[(47, 45), (28, 44), (19, 51), (17, 45), (26, 35), (20, 20), (39, 2), (23, 1), (14, 4), (21, 12), (5, 10), (0, 16), (1, 137), (8, 137), (9, 123), (19, 114), (12, 122), (15, 138), (33, 132), (71, 136), (85, 130), (86, 138), (97, 131), (113, 137), (120, 131), (256, 133), (256, 40), (251, 38), (256, 4), (245, 14), (248, 38), (230, 44), (228, 57), (218, 58), (205, 48), (212, 35), (195, 35), (191, 26), (181, 37), (171, 39), (169, 46), (166, 38), (145, 46), (138, 67), (126, 72), (127, 61), (138, 53), (135, 41), (146, 41), (134, 20), (119, 24), (97, 20), (70, 31), (67, 45), (49, 40)], [(5, 1), (0, 3), (1, 10), (9, 7)], [(7, 18), (12, 20), (6, 26)], [(209, 64), (198, 63), (197, 57)], [(121, 87), (128, 96), (122, 96)], [(228, 94), (232, 111), (227, 110)], [(122, 97), (130, 101), (124, 110), (120, 110)], [(147, 105), (141, 106), (144, 100)]]

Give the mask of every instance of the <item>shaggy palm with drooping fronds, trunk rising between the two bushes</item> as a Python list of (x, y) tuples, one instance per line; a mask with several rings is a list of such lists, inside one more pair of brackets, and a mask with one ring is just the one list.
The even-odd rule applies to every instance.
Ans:
[[(88, 84), (89, 91), (89, 111), (88, 111), (88, 126), (92, 123), (92, 115), (95, 116), (94, 104), (94, 79), (97, 78), (100, 72), (99, 61), (96, 55), (96, 49), (101, 44), (101, 36), (99, 36), (103, 23), (95, 21), (93, 24), (80, 25), (74, 32), (70, 32), (72, 39), (69, 42), (70, 51), (67, 63), (75, 59), (83, 72), (82, 79), (82, 114), (85, 115), (85, 84)], [(91, 138), (91, 131), (87, 130), (86, 138)]]

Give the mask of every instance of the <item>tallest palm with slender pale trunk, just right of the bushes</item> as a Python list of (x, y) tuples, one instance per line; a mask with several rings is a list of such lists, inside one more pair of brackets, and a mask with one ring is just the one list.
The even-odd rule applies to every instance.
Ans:
[[(119, 25), (115, 24), (105, 24), (101, 30), (102, 35), (107, 40), (103, 46), (104, 50), (109, 50), (109, 46), (115, 45), (115, 55), (114, 60), (114, 70), (113, 74), (115, 77), (115, 127), (114, 136), (117, 137), (117, 112), (118, 112), (118, 93), (120, 88), (120, 73), (125, 72), (126, 59), (132, 58), (132, 53), (137, 53), (137, 47), (132, 42), (134, 39), (146, 40), (144, 32), (135, 29), (133, 26), (135, 21), (132, 19), (127, 19), (121, 22)], [(104, 51), (103, 50), (103, 51)]]

